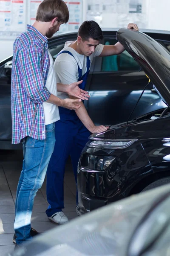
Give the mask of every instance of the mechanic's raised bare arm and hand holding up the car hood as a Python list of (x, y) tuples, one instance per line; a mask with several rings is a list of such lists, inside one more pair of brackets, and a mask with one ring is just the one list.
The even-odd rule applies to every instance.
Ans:
[[(139, 31), (138, 26), (134, 23), (129, 23), (127, 29), (134, 29)], [(100, 57), (117, 55), (122, 53), (125, 48), (119, 42), (114, 45), (104, 45), (102, 53), (99, 55)]]

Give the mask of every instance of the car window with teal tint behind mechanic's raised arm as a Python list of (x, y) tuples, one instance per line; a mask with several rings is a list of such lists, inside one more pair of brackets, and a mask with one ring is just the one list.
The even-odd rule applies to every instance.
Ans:
[[(116, 39), (105, 38), (105, 45), (113, 45), (116, 42)], [(139, 65), (126, 50), (119, 55), (102, 57), (102, 72), (133, 71), (138, 69)]]

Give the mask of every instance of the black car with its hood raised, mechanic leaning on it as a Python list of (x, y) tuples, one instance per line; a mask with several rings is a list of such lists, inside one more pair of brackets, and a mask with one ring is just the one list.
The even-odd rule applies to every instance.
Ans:
[(149, 113), (91, 135), (79, 159), (79, 215), (170, 182), (170, 53), (142, 32), (120, 29), (116, 38), (150, 78), (146, 90), (152, 85), (166, 108), (150, 105)]

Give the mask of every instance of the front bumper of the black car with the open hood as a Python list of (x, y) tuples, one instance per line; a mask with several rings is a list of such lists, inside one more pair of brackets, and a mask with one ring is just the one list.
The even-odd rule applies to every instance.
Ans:
[[(94, 209), (95, 200), (111, 203), (126, 197), (133, 186), (142, 180), (144, 175), (153, 173), (144, 149), (139, 140), (127, 149), (101, 149), (85, 147), (79, 160), (79, 166), (84, 166), (86, 158), (93, 156), (113, 156), (115, 160), (105, 172), (78, 171), (79, 206), (81, 200), (86, 203), (86, 210)], [(92, 200), (92, 201), (91, 201)], [(89, 205), (88, 202), (89, 201)], [(88, 208), (87, 208), (88, 205)], [(98, 206), (99, 207), (99, 206)], [(85, 210), (85, 209), (84, 209)]]

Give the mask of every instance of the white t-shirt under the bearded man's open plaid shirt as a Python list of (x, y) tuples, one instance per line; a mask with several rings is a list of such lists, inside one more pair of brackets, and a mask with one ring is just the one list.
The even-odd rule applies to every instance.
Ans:
[[(50, 58), (50, 67), (49, 67), (45, 87), (47, 87), (50, 93), (57, 96), (57, 80), (56, 80), (56, 74), (54, 71), (54, 61), (49, 51), (48, 51), (48, 55)], [(48, 102), (43, 102), (43, 107), (44, 107), (44, 115), (45, 115), (45, 125), (52, 124), (53, 122), (56, 122), (60, 119), (57, 105), (54, 105)]]

